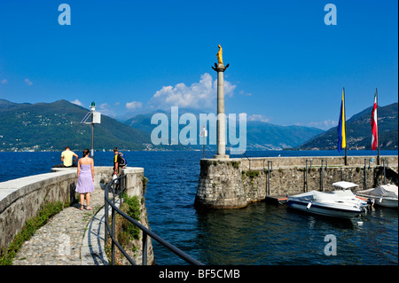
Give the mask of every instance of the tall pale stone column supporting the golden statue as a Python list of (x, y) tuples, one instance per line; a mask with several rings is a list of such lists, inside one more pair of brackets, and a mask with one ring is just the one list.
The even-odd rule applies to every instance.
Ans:
[(227, 67), (229, 67), (229, 64), (226, 67), (223, 64), (215, 64), (215, 67), (212, 67), (217, 72), (217, 154), (214, 155), (215, 159), (229, 158), (229, 155), (226, 155), (226, 114), (224, 113), (223, 79), (223, 73)]

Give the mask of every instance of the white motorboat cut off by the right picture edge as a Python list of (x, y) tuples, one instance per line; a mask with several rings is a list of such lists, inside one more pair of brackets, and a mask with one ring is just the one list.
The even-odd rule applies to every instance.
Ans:
[(397, 185), (379, 185), (364, 191), (358, 191), (357, 195), (374, 200), (375, 205), (387, 208), (397, 208)]

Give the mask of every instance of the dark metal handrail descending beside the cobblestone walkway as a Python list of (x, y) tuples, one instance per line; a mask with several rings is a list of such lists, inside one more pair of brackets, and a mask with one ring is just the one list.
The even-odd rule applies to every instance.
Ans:
[[(121, 211), (120, 208), (116, 207), (115, 198), (118, 195), (121, 196), (121, 193), (123, 193), (124, 190), (126, 189), (125, 181), (126, 181), (126, 175), (122, 175), (121, 177), (113, 179), (113, 181), (109, 182), (106, 185), (106, 189), (105, 189), (105, 203), (106, 203), (106, 205), (105, 205), (105, 209), (106, 209), (106, 217), (105, 217), (105, 220), (106, 220), (106, 237), (105, 237), (105, 242), (108, 239), (108, 233), (109, 233), (109, 235), (111, 237), (111, 240), (112, 240), (112, 248), (111, 248), (112, 249), (112, 265), (114, 265), (114, 263), (115, 263), (115, 246), (117, 248), (119, 248), (119, 250), (121, 251), (121, 253), (123, 255), (125, 255), (125, 257), (129, 261), (129, 263), (131, 263), (133, 265), (137, 265), (137, 263), (135, 263), (135, 261), (127, 254), (126, 250), (124, 248), (122, 248), (121, 245), (115, 239), (115, 212), (117, 212), (118, 214), (120, 214), (121, 216), (126, 218), (130, 223), (135, 224), (137, 226), (137, 228), (140, 229), (143, 232), (143, 262), (142, 262), (143, 265), (147, 264), (147, 253), (148, 253), (148, 246), (147, 246), (148, 237), (147, 236), (150, 236), (153, 240), (156, 240), (157, 242), (159, 242), (160, 245), (162, 245), (163, 247), (168, 248), (170, 251), (172, 251), (177, 256), (182, 258), (186, 263), (190, 263), (190, 264), (193, 264), (193, 265), (204, 265), (204, 263), (200, 263), (196, 259), (192, 258), (192, 256), (185, 254), (182, 250), (180, 250), (179, 248), (176, 248), (175, 246), (170, 244), (168, 241), (163, 240), (162, 238), (160, 238), (160, 236), (158, 236), (154, 232), (152, 232), (149, 229), (147, 229), (143, 224), (140, 224), (135, 219), (131, 218), (126, 213)], [(116, 189), (118, 183), (120, 184), (120, 192), (119, 193), (115, 193), (115, 189)], [(108, 193), (109, 193), (109, 189), (110, 188), (112, 188), (113, 200), (110, 200), (109, 197), (108, 197)], [(119, 200), (121, 200), (121, 197), (119, 198)], [(111, 210), (111, 215), (112, 215), (111, 216), (111, 218), (112, 218), (111, 227), (109, 225), (109, 219), (108, 219), (109, 206), (112, 209)]]

